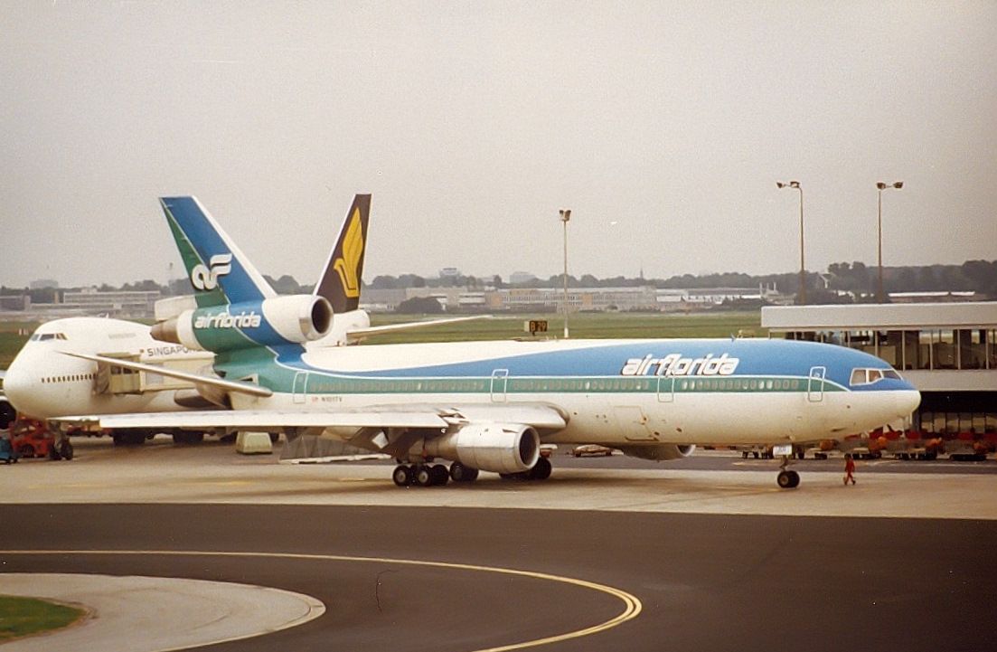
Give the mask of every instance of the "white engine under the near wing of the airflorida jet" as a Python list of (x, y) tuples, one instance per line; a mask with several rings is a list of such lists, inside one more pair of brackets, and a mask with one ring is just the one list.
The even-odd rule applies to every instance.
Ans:
[(423, 451), (473, 469), (516, 474), (536, 464), (540, 457), (540, 437), (522, 424), (469, 424), (426, 440)]

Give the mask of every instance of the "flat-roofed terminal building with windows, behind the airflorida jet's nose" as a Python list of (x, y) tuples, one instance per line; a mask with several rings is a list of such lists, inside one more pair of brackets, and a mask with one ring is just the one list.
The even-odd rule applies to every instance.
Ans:
[(765, 307), (762, 327), (893, 365), (921, 392), (914, 437), (947, 453), (997, 445), (997, 302)]

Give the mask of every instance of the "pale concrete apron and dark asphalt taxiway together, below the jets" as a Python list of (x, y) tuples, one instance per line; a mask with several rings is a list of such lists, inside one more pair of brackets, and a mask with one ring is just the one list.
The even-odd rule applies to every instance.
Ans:
[[(555, 458), (545, 483), (399, 489), (384, 464), (286, 465), (214, 444), (78, 450), (0, 469), (4, 572), (231, 582), (324, 605), (301, 626), (198, 649), (997, 647), (995, 474), (869, 465), (844, 488), (829, 468), (782, 490), (772, 463)], [(162, 613), (158, 599), (139, 615)], [(49, 649), (75, 649), (58, 636)]]

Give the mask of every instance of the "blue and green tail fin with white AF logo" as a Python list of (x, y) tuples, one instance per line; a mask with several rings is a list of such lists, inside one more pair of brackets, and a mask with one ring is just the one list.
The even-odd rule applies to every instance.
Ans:
[(200, 308), (276, 296), (196, 197), (160, 197)]

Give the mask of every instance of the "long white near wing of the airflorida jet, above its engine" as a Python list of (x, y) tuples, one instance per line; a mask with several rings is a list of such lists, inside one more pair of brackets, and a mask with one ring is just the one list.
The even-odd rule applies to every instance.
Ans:
[(229, 431), (280, 431), (285, 428), (426, 428), (444, 430), (473, 422), (515, 423), (538, 430), (560, 430), (566, 419), (544, 404), (434, 407), (420, 405), (367, 406), (357, 410), (305, 412), (294, 410), (211, 410), (83, 415), (57, 421), (98, 424), (101, 428), (224, 428)]

